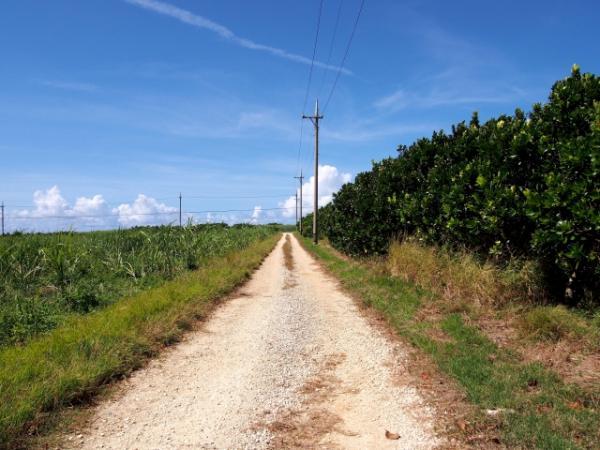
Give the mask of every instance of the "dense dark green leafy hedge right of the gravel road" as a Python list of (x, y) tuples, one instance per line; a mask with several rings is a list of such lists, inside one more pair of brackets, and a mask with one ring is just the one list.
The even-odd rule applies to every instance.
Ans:
[(534, 258), (557, 296), (598, 301), (600, 78), (574, 66), (527, 115), (482, 125), (475, 113), (398, 151), (324, 208), (335, 247), (379, 254), (416, 235), (497, 260)]

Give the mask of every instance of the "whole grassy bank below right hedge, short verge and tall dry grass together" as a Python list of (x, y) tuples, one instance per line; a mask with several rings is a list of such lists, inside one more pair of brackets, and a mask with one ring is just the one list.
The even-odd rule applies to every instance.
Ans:
[[(597, 314), (586, 318), (562, 307), (513, 302), (515, 295), (536, 295), (526, 266), (494, 271), (468, 255), (452, 257), (414, 243), (392, 246), (385, 260), (357, 261), (327, 245), (303, 243), (345, 288), (456, 380), (479, 411), (467, 440), (485, 430), (510, 447), (597, 448), (600, 386), (567, 382), (519, 351), (543, 342), (578, 342), (579, 354), (597, 355)], [(499, 345), (486, 333), (486, 320), (507, 325), (500, 328), (512, 338)]]

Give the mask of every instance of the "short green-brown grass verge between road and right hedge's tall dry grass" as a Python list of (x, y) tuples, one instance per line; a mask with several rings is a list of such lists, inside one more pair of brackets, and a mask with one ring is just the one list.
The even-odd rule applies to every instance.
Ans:
[[(326, 245), (299, 239), (346, 289), (457, 381), (479, 411), (466, 430), (467, 441), (492, 423), (493, 438), (501, 446), (597, 448), (598, 390), (565, 383), (540, 363), (524, 362), (515, 352), (498, 347), (465, 314), (428, 315), (435, 294), (390, 276), (385, 262), (347, 259)], [(487, 438), (489, 442), (481, 443), (484, 447), (497, 444), (492, 434)]]

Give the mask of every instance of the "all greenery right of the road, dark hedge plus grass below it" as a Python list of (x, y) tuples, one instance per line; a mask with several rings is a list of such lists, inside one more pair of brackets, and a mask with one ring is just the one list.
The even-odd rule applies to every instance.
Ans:
[(597, 448), (600, 77), (401, 145), (319, 217), (305, 245), (480, 407), (471, 438)]

